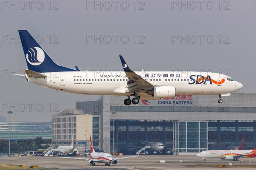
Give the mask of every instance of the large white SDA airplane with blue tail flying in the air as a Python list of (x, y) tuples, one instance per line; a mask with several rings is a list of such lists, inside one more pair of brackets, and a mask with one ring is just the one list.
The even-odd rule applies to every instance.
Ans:
[[(88, 95), (127, 96), (125, 105), (176, 95), (230, 96), (243, 85), (219, 73), (200, 71), (132, 71), (119, 56), (124, 71), (80, 71), (57, 65), (27, 30), (19, 30), (28, 69), (26, 80), (44, 88)], [(157, 62), (159, 65), (160, 62)], [(134, 96), (130, 99), (130, 96)]]

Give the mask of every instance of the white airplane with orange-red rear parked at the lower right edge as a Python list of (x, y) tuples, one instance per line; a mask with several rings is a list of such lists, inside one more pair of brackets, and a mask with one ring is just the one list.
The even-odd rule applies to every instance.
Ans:
[(196, 156), (204, 159), (206, 158), (220, 158), (226, 160), (238, 161), (239, 158), (253, 158), (256, 157), (255, 150), (205, 150), (198, 153)]

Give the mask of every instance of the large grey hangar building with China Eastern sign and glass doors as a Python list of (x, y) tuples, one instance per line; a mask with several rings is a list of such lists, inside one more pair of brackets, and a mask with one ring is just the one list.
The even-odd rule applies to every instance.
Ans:
[(76, 109), (100, 116), (100, 150), (113, 150), (113, 130), (114, 150), (122, 153), (140, 149), (141, 143), (163, 142), (174, 154), (195, 154), (239, 146), (243, 136), (245, 147), (256, 146), (256, 94), (234, 93), (222, 97), (222, 104), (218, 96), (177, 95), (130, 106), (124, 99), (76, 103)]

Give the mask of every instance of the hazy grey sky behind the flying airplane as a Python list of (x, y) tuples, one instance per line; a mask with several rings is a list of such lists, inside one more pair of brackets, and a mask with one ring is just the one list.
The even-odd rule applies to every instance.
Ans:
[(12, 108), (13, 121), (48, 122), (77, 101), (99, 99), (11, 76), (27, 68), (19, 29), (68, 68), (121, 70), (123, 55), (132, 69), (212, 69), (241, 82), (241, 91), (256, 92), (256, 1), (10, 2), (0, 1), (0, 113), (8, 116)]

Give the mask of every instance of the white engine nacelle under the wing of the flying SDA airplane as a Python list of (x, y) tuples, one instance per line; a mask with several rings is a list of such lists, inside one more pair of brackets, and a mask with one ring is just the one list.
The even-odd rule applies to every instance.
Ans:
[(176, 96), (176, 89), (172, 86), (160, 86), (148, 90), (147, 94), (156, 98), (172, 98)]

